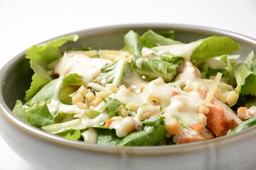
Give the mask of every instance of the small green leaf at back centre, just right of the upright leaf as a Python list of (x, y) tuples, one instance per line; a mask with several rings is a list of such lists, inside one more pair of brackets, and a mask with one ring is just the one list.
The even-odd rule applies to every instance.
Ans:
[[(164, 34), (166, 35), (166, 33)], [(153, 30), (148, 30), (140, 37), (140, 39), (142, 40), (144, 47), (149, 48), (159, 45), (173, 45), (181, 43), (179, 41), (172, 40), (171, 38), (166, 38), (163, 35), (155, 33)]]

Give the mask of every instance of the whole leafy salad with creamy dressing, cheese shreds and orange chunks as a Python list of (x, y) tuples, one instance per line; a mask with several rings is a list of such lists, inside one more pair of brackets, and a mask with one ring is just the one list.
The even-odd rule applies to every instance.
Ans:
[(71, 47), (68, 35), (26, 50), (34, 74), (13, 112), (50, 134), (111, 146), (179, 145), (256, 123), (256, 56), (228, 37), (175, 40), (130, 30), (121, 50)]

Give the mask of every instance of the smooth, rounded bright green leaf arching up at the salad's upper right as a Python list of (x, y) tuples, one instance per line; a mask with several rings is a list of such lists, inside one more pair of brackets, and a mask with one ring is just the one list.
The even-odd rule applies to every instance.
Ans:
[(201, 42), (193, 51), (191, 57), (196, 59), (206, 59), (221, 55), (231, 55), (234, 51), (240, 50), (240, 45), (228, 37), (212, 36), (198, 40)]

